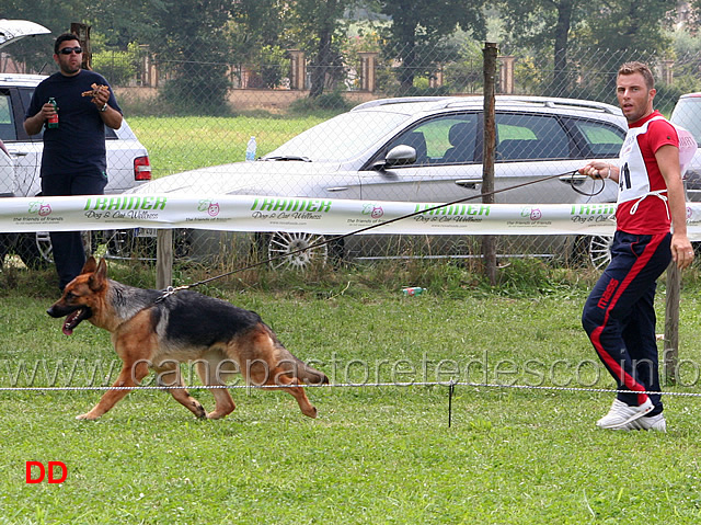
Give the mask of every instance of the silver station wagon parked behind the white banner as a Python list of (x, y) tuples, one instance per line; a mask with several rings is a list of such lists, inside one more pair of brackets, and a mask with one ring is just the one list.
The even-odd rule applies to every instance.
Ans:
[[(618, 157), (627, 123), (612, 105), (538, 96), (496, 98), (495, 190), (558, 175), (547, 182), (498, 193), (497, 203), (614, 202), (617, 186), (567, 173), (587, 159)], [(482, 187), (483, 99), (481, 96), (400, 98), (360, 104), (287, 141), (254, 162), (237, 162), (164, 176), (133, 190), (189, 195), (272, 195), (364, 201), (451, 202), (479, 195)], [(138, 230), (123, 231), (111, 247), (129, 256)], [(238, 236), (240, 237), (240, 236)], [(251, 236), (248, 236), (251, 237)], [(412, 237), (412, 236), (406, 236)], [(421, 237), (421, 236), (416, 236)], [(260, 233), (253, 243), (277, 264), (303, 266), (313, 258), (474, 256), (474, 239), (397, 239), (363, 235), (286, 253), (323, 237)], [(232, 235), (183, 230), (176, 253), (202, 259), (228, 251)], [(538, 255), (607, 251), (597, 238), (499, 239), (499, 253)], [(563, 244), (566, 242), (566, 246)], [(239, 244), (238, 240), (235, 241)], [(607, 255), (608, 256), (608, 255)]]

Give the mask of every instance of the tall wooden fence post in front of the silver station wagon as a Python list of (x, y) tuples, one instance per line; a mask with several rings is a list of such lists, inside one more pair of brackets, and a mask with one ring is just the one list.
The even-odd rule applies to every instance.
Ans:
[[(482, 149), (482, 202), (494, 203), (494, 161), (496, 152), (496, 116), (495, 84), (496, 84), (496, 44), (484, 43), (484, 146)], [(484, 271), (492, 286), (496, 286), (496, 239), (494, 236), (482, 237), (482, 256)]]

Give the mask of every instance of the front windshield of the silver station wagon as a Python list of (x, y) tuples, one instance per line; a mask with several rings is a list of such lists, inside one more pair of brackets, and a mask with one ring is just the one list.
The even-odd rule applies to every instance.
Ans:
[(264, 159), (306, 158), (314, 162), (353, 159), (398, 128), (410, 115), (379, 111), (343, 113), (285, 142)]

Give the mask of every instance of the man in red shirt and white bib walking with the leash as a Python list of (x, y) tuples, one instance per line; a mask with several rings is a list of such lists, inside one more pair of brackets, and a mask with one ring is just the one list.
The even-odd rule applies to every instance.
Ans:
[[(619, 184), (611, 263), (584, 306), (582, 324), (619, 392), (597, 425), (666, 431), (659, 393), (654, 298), (657, 278), (674, 260), (691, 264), (679, 136), (653, 110), (654, 79), (641, 62), (618, 72), (616, 92), (629, 132), (618, 164), (589, 162), (579, 170)], [(674, 233), (670, 232), (674, 227)], [(629, 393), (630, 391), (630, 393)]]

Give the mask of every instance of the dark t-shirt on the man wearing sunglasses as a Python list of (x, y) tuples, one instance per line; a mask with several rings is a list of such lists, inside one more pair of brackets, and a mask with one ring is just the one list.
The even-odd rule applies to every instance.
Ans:
[[(92, 99), (82, 96), (93, 83), (110, 85), (102, 75), (81, 69), (74, 77), (56, 72), (34, 90), (25, 118), (36, 115), (51, 96), (58, 105), (58, 128), (48, 128), (45, 123), (42, 176), (106, 172), (105, 125)], [(112, 89), (107, 104), (122, 113)]]

